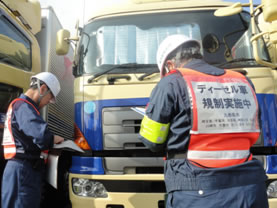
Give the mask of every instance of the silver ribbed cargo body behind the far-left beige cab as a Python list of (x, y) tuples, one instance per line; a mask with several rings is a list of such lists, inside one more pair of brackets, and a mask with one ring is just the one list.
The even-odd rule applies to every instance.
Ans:
[(61, 84), (57, 103), (43, 109), (51, 131), (66, 139), (73, 138), (73, 49), (66, 56), (56, 55), (56, 33), (62, 25), (52, 7), (41, 9), (41, 31), (36, 34), (40, 46), (41, 70), (52, 72)]

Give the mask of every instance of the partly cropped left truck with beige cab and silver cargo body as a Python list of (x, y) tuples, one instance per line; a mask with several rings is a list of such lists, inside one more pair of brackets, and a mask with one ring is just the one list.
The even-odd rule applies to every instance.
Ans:
[[(0, 1), (1, 144), (9, 103), (29, 88), (31, 76), (43, 71), (52, 72), (58, 77), (61, 92), (57, 103), (43, 108), (41, 115), (54, 134), (66, 139), (73, 138), (73, 50), (71, 48), (66, 56), (56, 55), (56, 33), (61, 28), (53, 8), (41, 8), (36, 0)], [(2, 181), (5, 167), (2, 145), (0, 154)]]

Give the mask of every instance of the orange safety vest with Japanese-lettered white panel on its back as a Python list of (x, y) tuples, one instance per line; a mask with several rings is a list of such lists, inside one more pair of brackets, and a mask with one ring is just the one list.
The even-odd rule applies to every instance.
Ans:
[(227, 167), (252, 159), (260, 135), (258, 102), (240, 73), (212, 76), (178, 69), (186, 83), (193, 114), (187, 158), (205, 167)]

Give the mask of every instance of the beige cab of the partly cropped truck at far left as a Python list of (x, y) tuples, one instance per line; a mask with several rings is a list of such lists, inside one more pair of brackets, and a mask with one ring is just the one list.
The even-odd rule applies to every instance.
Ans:
[[(28, 89), (30, 77), (40, 70), (39, 45), (34, 36), (40, 30), (40, 27), (40, 5), (38, 2), (0, 1), (1, 144), (5, 114), (9, 103)], [(3, 148), (0, 145), (1, 181), (4, 167)]]

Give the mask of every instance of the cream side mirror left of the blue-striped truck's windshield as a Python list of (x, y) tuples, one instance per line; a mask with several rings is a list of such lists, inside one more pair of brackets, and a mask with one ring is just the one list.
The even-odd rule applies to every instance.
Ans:
[(59, 30), (56, 37), (56, 53), (58, 55), (65, 55), (69, 50), (69, 37), (70, 32), (68, 30)]

